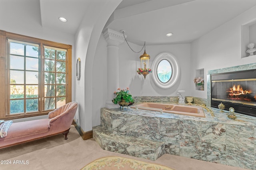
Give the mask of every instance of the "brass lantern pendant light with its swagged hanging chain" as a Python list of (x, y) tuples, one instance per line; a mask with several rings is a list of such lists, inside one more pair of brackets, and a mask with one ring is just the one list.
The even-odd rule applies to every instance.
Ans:
[[(120, 31), (121, 33), (123, 33), (124, 35), (124, 30)], [(124, 35), (124, 39), (127, 43), (127, 45), (130, 47), (130, 45), (128, 44), (126, 37)], [(144, 79), (146, 79), (146, 76), (152, 72), (152, 70), (150, 68), (147, 68), (147, 66), (149, 66), (149, 59), (150, 59), (150, 55), (148, 55), (146, 53), (146, 42), (144, 42), (144, 45), (142, 47), (142, 49), (139, 52), (134, 51), (131, 47), (130, 49), (134, 52), (134, 53), (140, 53), (144, 48), (144, 53), (140, 56), (140, 68), (138, 68), (137, 72), (138, 74), (142, 74), (144, 76)], [(143, 65), (142, 65), (143, 64)]]

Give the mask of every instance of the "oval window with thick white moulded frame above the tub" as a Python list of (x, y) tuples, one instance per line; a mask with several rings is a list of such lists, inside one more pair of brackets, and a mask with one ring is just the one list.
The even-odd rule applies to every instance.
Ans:
[(179, 77), (179, 65), (170, 53), (160, 53), (152, 63), (154, 83), (160, 88), (170, 88)]

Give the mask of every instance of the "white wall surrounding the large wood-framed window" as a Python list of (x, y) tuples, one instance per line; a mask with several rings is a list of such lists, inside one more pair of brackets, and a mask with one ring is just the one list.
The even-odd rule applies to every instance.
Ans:
[[(27, 4), (26, 4), (27, 3)], [(58, 43), (64, 43), (72, 45), (72, 85), (74, 85), (75, 80), (75, 37), (74, 35), (64, 33), (60, 30), (54, 31), (53, 29), (42, 27), (41, 18), (40, 18), (40, 4), (39, 1), (15, 1), (16, 5), (8, 6), (9, 3), (1, 2), (0, 5), (0, 30), (4, 30), (11, 33), (16, 33), (20, 35), (26, 35), (29, 37), (45, 39), (49, 41), (54, 41)], [(5, 13), (6, 10), (1, 10), (3, 8), (9, 8), (10, 11), (15, 10), (17, 13), (22, 13), (24, 18), (21, 19), (19, 16), (16, 16), (16, 12)], [(30, 12), (26, 13), (24, 11), (33, 11), (31, 15)], [(13, 15), (12, 15), (13, 14)], [(74, 87), (72, 86), (72, 100), (74, 100)], [(16, 119), (18, 121), (28, 121), (31, 119), (42, 119), (47, 117), (44, 116), (35, 116), (30, 118)]]

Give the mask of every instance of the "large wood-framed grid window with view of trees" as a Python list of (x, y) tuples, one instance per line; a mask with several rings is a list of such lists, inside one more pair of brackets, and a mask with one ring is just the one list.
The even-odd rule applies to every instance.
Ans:
[(4, 46), (0, 103), (7, 107), (1, 107), (1, 119), (47, 114), (71, 102), (71, 45), (0, 31)]

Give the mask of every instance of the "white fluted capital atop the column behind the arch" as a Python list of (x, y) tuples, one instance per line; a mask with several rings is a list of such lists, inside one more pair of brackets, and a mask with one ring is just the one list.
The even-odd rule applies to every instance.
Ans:
[(103, 31), (103, 36), (106, 39), (108, 45), (118, 46), (124, 42), (124, 35), (112, 29), (105, 29), (105, 31)]

